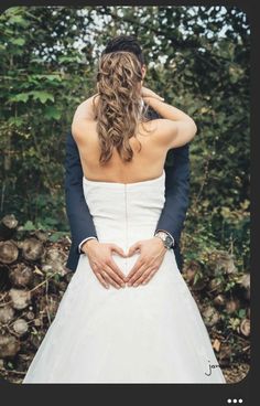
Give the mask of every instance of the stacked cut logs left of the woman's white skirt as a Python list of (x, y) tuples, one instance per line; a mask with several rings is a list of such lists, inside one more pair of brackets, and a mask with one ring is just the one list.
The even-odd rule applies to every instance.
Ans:
[(0, 376), (13, 383), (25, 375), (72, 277), (69, 239), (48, 237), (23, 233), (13, 215), (0, 222)]

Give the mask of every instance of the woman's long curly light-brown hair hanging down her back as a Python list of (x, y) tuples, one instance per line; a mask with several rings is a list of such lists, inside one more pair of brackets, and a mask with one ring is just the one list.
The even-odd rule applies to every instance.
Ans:
[[(139, 122), (143, 126), (148, 121), (148, 106), (142, 105), (141, 81), (141, 64), (133, 53), (118, 51), (101, 55), (94, 97), (101, 165), (110, 160), (113, 147), (122, 161), (130, 162), (133, 158), (129, 139), (137, 137)], [(95, 103), (96, 97), (98, 103)], [(140, 141), (139, 145), (140, 151)]]

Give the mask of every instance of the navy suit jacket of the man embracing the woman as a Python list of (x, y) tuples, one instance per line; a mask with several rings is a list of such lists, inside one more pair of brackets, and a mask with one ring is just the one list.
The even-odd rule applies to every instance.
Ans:
[[(150, 119), (160, 118), (152, 108), (147, 113)], [(165, 203), (158, 222), (156, 229), (165, 229), (174, 237), (174, 253), (182, 271), (180, 253), (181, 232), (186, 217), (189, 192), (189, 157), (188, 145), (167, 151), (165, 164)], [(69, 130), (66, 138), (65, 157), (65, 199), (66, 213), (72, 234), (66, 267), (76, 270), (79, 255), (78, 245), (83, 239), (97, 236), (88, 205), (83, 192), (83, 168), (77, 145)], [(112, 242), (111, 242), (112, 243)]]

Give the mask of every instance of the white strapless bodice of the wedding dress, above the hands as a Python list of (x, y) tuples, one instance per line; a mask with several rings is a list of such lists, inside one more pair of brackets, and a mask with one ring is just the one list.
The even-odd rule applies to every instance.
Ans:
[(137, 236), (153, 236), (165, 202), (164, 170), (159, 178), (134, 183), (90, 181), (84, 177), (83, 189), (99, 241), (106, 236), (129, 243)]

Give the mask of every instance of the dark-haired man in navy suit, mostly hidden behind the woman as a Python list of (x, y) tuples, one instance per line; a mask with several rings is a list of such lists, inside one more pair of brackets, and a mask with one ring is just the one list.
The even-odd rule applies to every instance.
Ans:
[[(102, 53), (117, 51), (134, 53), (145, 74), (144, 57), (134, 36), (119, 35), (110, 40)], [(150, 119), (160, 118), (158, 113), (151, 107), (149, 107), (148, 117)], [(156, 265), (160, 266), (167, 249), (174, 250), (178, 268), (182, 270), (182, 257), (178, 244), (188, 205), (188, 145), (171, 149), (167, 152), (164, 170), (164, 207), (159, 218), (154, 237), (142, 241), (141, 244), (139, 244), (140, 256), (130, 270), (133, 277), (138, 275), (140, 269), (145, 270), (145, 267), (148, 268), (151, 266), (153, 260), (156, 260)], [(101, 263), (102, 259), (102, 244), (98, 242), (93, 217), (83, 192), (83, 175), (77, 145), (69, 131), (66, 140), (65, 195), (66, 213), (72, 233), (72, 246), (66, 267), (72, 271), (75, 271), (77, 268), (79, 255), (86, 254), (90, 265), (91, 263)], [(131, 253), (133, 253), (133, 249), (134, 247), (130, 249)], [(143, 254), (144, 252), (145, 255)], [(117, 273), (116, 268), (113, 270)]]

